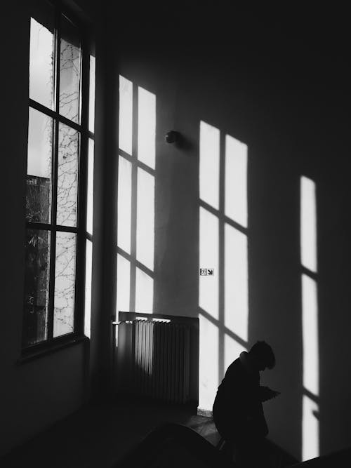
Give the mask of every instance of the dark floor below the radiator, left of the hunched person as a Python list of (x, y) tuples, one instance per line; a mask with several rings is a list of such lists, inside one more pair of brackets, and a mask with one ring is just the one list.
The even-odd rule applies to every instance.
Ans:
[(218, 432), (196, 410), (157, 403), (95, 403), (77, 411), (0, 459), (1, 468), (110, 468), (154, 427), (186, 424), (216, 445)]

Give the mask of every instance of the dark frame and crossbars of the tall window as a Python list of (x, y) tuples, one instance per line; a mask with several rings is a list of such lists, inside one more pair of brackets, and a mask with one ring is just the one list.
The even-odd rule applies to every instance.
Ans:
[[(87, 212), (87, 189), (88, 189), (88, 140), (94, 141), (94, 133), (89, 131), (89, 86), (90, 86), (90, 56), (93, 55), (94, 48), (93, 35), (88, 32), (88, 28), (77, 18), (74, 13), (62, 6), (61, 2), (42, 1), (43, 6), (48, 5), (53, 8), (53, 42), (54, 42), (54, 66), (53, 66), (53, 109), (50, 109), (41, 103), (33, 100), (28, 95), (28, 116), (29, 109), (35, 109), (42, 114), (51, 117), (53, 140), (51, 149), (51, 213), (50, 222), (33, 222), (25, 220), (25, 233), (27, 229), (41, 229), (50, 232), (51, 240), (49, 247), (49, 267), (48, 267), (48, 314), (46, 340), (28, 345), (25, 342), (25, 305), (22, 309), (22, 356), (37, 355), (39, 352), (46, 352), (50, 349), (56, 349), (61, 345), (66, 345), (75, 341), (84, 339), (84, 312), (85, 312), (85, 281), (86, 281), (86, 241), (93, 241), (91, 233), (86, 231), (86, 212)], [(60, 23), (64, 16), (69, 22), (77, 28), (81, 43), (81, 62), (80, 62), (80, 89), (79, 89), (79, 123), (67, 119), (60, 115)], [(29, 21), (36, 19), (35, 12), (29, 11)], [(29, 27), (30, 31), (30, 27)], [(29, 33), (30, 34), (30, 33)], [(29, 76), (29, 60), (28, 60)], [(28, 118), (29, 123), (29, 118)], [(57, 224), (57, 187), (58, 187), (58, 149), (59, 149), (59, 126), (60, 123), (72, 128), (78, 132), (78, 187), (77, 187), (77, 222), (75, 227), (68, 227)], [(26, 154), (26, 157), (27, 154)], [(27, 159), (28, 161), (28, 159)], [(25, 184), (27, 185), (27, 170)], [(27, 196), (27, 190), (26, 190)], [(54, 321), (54, 299), (55, 299), (55, 250), (56, 236), (58, 232), (71, 232), (76, 234), (76, 253), (75, 253), (75, 278), (74, 278), (74, 314), (73, 331), (53, 336)]]

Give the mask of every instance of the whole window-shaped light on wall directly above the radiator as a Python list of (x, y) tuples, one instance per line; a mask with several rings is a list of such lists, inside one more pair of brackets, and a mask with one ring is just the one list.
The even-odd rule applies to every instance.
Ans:
[(119, 102), (117, 314), (152, 312), (156, 96), (120, 76)]

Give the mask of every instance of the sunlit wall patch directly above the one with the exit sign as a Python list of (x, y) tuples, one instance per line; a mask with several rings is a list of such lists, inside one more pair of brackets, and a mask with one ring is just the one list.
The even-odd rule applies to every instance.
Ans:
[(219, 208), (220, 131), (200, 122), (200, 199)]

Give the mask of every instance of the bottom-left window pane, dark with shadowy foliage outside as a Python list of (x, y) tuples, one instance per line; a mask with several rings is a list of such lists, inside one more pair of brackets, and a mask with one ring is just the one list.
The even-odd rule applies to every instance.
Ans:
[(25, 236), (25, 297), (23, 346), (46, 340), (50, 232), (27, 229)]

